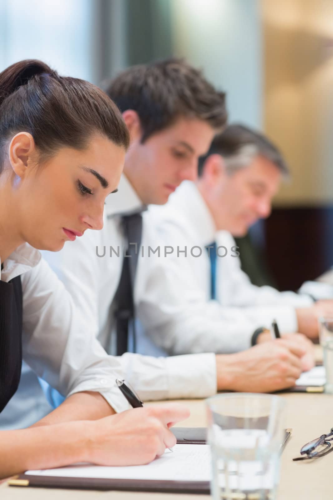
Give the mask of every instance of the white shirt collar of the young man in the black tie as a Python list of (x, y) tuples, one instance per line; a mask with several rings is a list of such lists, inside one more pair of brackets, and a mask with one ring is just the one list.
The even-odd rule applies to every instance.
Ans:
[(120, 178), (118, 191), (109, 197), (104, 212), (107, 217), (113, 215), (129, 215), (131, 213), (141, 212), (146, 209), (139, 198), (134, 187), (125, 174)]

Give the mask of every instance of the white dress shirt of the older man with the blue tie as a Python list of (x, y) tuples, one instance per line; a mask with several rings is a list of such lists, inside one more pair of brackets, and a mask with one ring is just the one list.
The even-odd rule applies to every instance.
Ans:
[[(158, 285), (156, 274), (150, 278), (141, 305), (146, 331), (155, 343), (172, 353), (233, 352), (250, 347), (254, 329), (270, 327), (273, 318), (281, 331), (297, 330), (295, 307), (310, 305), (311, 298), (253, 285), (241, 269), (235, 240), (227, 231), (216, 231), (195, 183), (184, 181), (166, 205), (151, 206), (146, 219), (156, 227), (160, 240), (174, 248), (163, 262), (167, 281), (164, 279), (163, 286), (174, 297), (173, 304), (161, 300), (162, 285)], [(218, 251), (217, 297), (211, 300), (210, 259), (204, 247), (214, 240), (227, 254), (223, 256), (224, 248)], [(199, 247), (201, 255), (191, 255), (192, 248), (192, 253), (199, 255)]]

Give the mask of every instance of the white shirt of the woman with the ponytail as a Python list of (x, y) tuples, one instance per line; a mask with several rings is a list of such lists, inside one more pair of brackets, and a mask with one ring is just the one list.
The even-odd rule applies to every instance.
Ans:
[(63, 283), (27, 243), (3, 262), (0, 271), (0, 279), (6, 282), (18, 275), (23, 296), (23, 360), (63, 395), (97, 391), (116, 411), (127, 409), (115, 384), (122, 376), (119, 361), (106, 354)]

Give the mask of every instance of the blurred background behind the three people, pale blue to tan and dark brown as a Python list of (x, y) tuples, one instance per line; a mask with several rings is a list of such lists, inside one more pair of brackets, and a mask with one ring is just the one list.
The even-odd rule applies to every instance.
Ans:
[(290, 164), (292, 181), (252, 231), (260, 258), (244, 251), (253, 279), (267, 280), (263, 259), (281, 289), (324, 272), (333, 264), (332, 0), (0, 1), (0, 70), (40, 58), (98, 84), (172, 55), (202, 67), (227, 92), (230, 120), (262, 128)]

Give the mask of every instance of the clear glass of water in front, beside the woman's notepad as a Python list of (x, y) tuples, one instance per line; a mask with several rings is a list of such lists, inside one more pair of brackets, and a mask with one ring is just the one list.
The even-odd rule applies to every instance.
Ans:
[(226, 393), (206, 402), (214, 500), (274, 500), (285, 400), (271, 394)]

